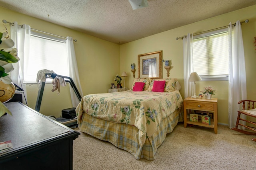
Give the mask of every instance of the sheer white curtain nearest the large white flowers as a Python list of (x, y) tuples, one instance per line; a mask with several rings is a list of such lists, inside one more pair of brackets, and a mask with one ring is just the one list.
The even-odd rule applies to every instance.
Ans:
[(29, 55), (30, 46), (30, 26), (23, 24), (22, 27), (15, 21), (14, 25), (11, 25), (11, 39), (14, 41), (14, 48), (18, 50), (18, 57), (20, 61), (14, 63), (14, 70), (12, 70), (10, 76), (12, 82), (24, 90), (22, 95), (23, 104), (26, 104), (27, 93), (24, 81), (24, 56)]

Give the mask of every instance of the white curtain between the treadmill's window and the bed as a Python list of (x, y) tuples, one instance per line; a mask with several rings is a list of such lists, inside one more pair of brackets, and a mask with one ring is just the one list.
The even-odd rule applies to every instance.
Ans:
[[(67, 37), (66, 39), (66, 47), (67, 47), (67, 55), (68, 55), (68, 76), (72, 78), (76, 88), (78, 89), (81, 97), (83, 97), (82, 88), (80, 85), (79, 75), (78, 75), (78, 68), (76, 63), (76, 54), (74, 49), (74, 43), (72, 37)], [(76, 96), (74, 90), (70, 86), (70, 95), (72, 100), (73, 107), (78, 106), (80, 100)]]

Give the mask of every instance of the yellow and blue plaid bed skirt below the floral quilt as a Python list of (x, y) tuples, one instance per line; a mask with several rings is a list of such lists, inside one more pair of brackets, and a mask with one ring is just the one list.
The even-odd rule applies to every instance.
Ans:
[(138, 129), (126, 123), (106, 121), (85, 113), (78, 127), (84, 133), (130, 152), (138, 160), (154, 160), (156, 150), (163, 143), (166, 134), (172, 132), (179, 121), (184, 121), (183, 117), (183, 108), (180, 107), (160, 123), (157, 131), (146, 139), (142, 148), (137, 138)]

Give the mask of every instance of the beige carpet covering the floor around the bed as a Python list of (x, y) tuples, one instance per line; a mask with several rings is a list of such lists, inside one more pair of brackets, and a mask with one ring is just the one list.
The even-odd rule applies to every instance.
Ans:
[[(80, 132), (78, 128), (75, 129)], [(179, 123), (153, 161), (136, 160), (129, 152), (86, 133), (74, 140), (74, 170), (256, 170), (256, 136), (218, 125), (184, 128)]]

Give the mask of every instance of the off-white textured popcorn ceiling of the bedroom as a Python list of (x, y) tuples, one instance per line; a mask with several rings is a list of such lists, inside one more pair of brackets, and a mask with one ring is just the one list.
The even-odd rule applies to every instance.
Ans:
[(117, 44), (255, 4), (256, 0), (148, 0), (148, 7), (132, 10), (128, 0), (0, 0), (2, 7)]

